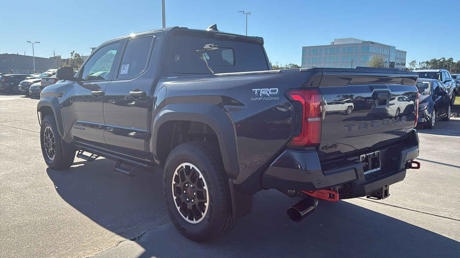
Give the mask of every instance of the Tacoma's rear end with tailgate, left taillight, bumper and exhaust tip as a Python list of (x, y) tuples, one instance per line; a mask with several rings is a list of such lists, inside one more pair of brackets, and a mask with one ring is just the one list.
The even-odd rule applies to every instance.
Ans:
[[(314, 69), (321, 76), (286, 92), (293, 107), (293, 139), (263, 176), (264, 188), (305, 197), (288, 209), (294, 221), (314, 211), (317, 199), (386, 198), (407, 169), (420, 168), (413, 161), (419, 156), (418, 97), (404, 97), (418, 96), (416, 73)], [(334, 103), (337, 108), (330, 107)], [(352, 111), (344, 103), (352, 104)]]

